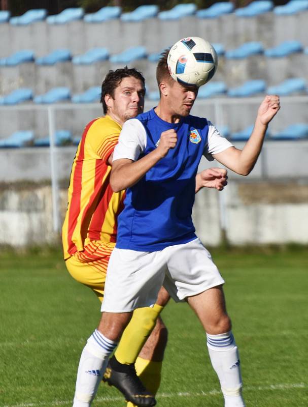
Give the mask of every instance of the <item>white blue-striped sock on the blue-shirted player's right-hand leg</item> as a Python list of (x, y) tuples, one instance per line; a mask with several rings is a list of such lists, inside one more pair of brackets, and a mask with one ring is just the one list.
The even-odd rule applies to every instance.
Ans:
[(245, 407), (242, 397), (242, 376), (237, 346), (232, 332), (207, 334), (212, 366), (218, 375), (225, 407)]

